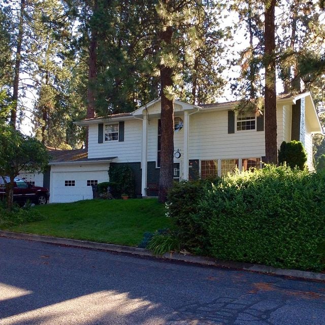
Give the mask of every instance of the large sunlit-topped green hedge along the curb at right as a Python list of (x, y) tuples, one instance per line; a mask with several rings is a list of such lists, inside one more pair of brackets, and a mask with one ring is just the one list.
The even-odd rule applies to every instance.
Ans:
[(215, 258), (323, 270), (325, 173), (267, 165), (228, 175), (196, 207)]

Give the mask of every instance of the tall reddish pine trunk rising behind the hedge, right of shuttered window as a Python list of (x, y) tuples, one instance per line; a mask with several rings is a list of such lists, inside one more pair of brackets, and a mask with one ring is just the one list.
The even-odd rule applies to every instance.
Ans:
[(278, 163), (275, 75), (275, 4), (265, 5), (265, 153), (266, 163)]

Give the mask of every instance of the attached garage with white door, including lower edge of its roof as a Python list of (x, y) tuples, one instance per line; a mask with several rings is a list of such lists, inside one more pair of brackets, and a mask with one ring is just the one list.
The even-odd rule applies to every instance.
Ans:
[(62, 161), (62, 155), (57, 155), (51, 160), (50, 203), (92, 199), (92, 185), (108, 181), (110, 163), (116, 157), (88, 159), (79, 155), (76, 160), (69, 158)]

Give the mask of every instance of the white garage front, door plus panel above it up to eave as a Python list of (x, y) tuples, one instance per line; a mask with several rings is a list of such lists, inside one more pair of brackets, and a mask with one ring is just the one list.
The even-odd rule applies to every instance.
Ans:
[[(92, 199), (92, 187), (87, 180), (107, 182), (109, 164), (51, 166), (50, 203), (66, 203)], [(65, 186), (64, 181), (74, 180), (75, 186)]]

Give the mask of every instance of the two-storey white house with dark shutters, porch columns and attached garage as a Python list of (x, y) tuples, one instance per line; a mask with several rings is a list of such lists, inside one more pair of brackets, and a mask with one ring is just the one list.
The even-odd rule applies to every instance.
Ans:
[[(175, 101), (174, 179), (222, 176), (235, 167), (259, 168), (265, 156), (264, 116), (236, 115), (238, 102), (191, 105)], [(128, 164), (135, 192), (147, 196), (147, 184), (158, 183), (160, 99), (132, 113), (76, 122), (88, 126), (88, 152), (62, 150), (50, 162), (50, 202), (92, 198), (91, 185), (107, 181), (115, 164)], [(299, 140), (313, 170), (312, 135), (321, 124), (309, 92), (277, 97), (277, 143)]]

